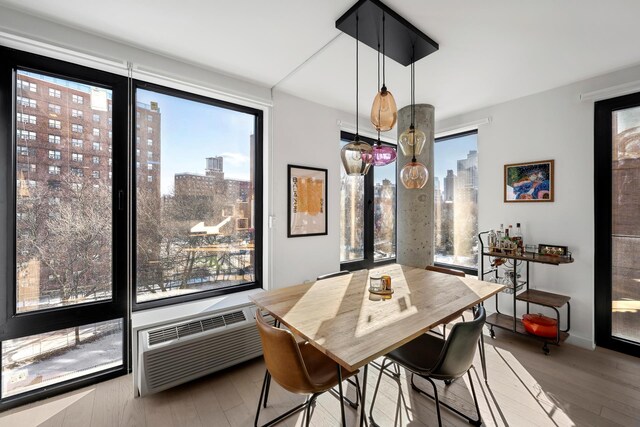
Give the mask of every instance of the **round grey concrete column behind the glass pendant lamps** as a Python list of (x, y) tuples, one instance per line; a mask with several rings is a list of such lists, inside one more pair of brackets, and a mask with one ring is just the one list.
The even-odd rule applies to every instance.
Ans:
[[(411, 125), (411, 106), (398, 111), (398, 136)], [(411, 161), (398, 147), (397, 175), (397, 255), (399, 264), (424, 268), (433, 264), (433, 125), (434, 108), (428, 104), (415, 106), (416, 129), (427, 136), (422, 153), (416, 160), (427, 167), (429, 180), (420, 190), (407, 190), (400, 181), (402, 167)]]

